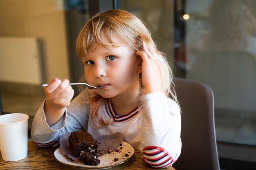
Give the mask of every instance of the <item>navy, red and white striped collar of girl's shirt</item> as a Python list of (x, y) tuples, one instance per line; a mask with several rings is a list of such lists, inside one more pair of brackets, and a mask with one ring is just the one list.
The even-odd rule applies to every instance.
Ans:
[(137, 106), (135, 109), (133, 109), (130, 113), (128, 113), (126, 115), (118, 116), (117, 113), (115, 112), (112, 102), (110, 100), (108, 100), (108, 104), (106, 106), (106, 111), (108, 113), (108, 116), (113, 117), (114, 123), (116, 123), (116, 124), (125, 123), (125, 122), (133, 119), (134, 117), (136, 117), (136, 115), (138, 115), (138, 113), (141, 109), (142, 109), (142, 104), (139, 104), (139, 106)]

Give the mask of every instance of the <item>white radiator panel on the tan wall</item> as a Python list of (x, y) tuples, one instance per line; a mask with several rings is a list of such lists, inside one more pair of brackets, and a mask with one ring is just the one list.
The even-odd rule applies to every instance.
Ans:
[(42, 84), (41, 64), (36, 38), (0, 37), (0, 81)]

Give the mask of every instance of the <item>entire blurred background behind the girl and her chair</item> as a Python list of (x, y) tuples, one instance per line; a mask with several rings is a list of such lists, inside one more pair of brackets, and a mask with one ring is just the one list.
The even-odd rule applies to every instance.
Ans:
[(0, 0), (0, 114), (26, 113), (31, 126), (41, 84), (78, 82), (76, 37), (108, 9), (144, 20), (175, 77), (212, 88), (220, 168), (255, 169), (256, 0)]

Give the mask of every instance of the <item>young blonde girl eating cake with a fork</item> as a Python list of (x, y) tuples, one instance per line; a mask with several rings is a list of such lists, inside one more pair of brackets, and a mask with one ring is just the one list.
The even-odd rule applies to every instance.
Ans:
[(122, 132), (150, 166), (172, 165), (181, 152), (180, 107), (171, 69), (144, 24), (124, 10), (98, 13), (81, 30), (76, 52), (86, 82), (103, 87), (70, 103), (69, 81), (52, 79), (32, 124), (34, 144), (56, 146), (60, 135), (77, 130)]

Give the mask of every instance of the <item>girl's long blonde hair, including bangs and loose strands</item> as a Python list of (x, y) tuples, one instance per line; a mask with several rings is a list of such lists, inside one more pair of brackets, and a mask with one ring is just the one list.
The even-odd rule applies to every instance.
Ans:
[[(91, 47), (97, 48), (97, 44), (112, 46), (117, 43), (124, 44), (135, 51), (143, 49), (150, 58), (155, 60), (159, 65), (162, 88), (166, 96), (177, 102), (173, 86), (173, 74), (164, 53), (157, 50), (150, 32), (142, 21), (128, 11), (115, 9), (94, 15), (79, 33), (76, 53), (81, 58), (88, 55)], [(87, 90), (86, 93), (88, 96), (85, 96), (85, 101), (90, 103), (89, 119), (93, 122), (91, 126), (101, 128), (109, 124), (111, 120), (106, 119), (104, 115), (99, 115), (99, 110), (105, 108), (108, 99), (101, 97), (94, 91)], [(141, 84), (141, 95), (143, 94), (144, 88)]]

